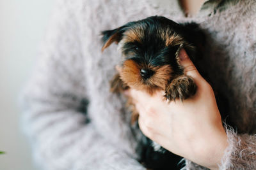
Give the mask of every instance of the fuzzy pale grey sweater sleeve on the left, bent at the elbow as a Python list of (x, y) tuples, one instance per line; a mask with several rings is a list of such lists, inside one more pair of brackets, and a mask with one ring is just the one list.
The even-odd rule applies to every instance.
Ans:
[(86, 57), (76, 17), (68, 1), (60, 1), (55, 11), (35, 71), (20, 94), (36, 163), (48, 170), (144, 169), (95, 131), (86, 114)]

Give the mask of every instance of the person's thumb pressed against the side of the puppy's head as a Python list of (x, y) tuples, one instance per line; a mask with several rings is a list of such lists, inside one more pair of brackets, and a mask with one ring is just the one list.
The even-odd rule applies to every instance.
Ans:
[(195, 65), (189, 59), (188, 53), (182, 48), (179, 52), (180, 65), (184, 67), (184, 73), (193, 78), (202, 78), (200, 73), (198, 73)]

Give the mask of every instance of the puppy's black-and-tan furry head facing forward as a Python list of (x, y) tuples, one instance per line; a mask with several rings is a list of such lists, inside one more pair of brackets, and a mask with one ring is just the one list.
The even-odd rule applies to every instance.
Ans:
[(122, 81), (150, 94), (157, 89), (164, 90), (173, 78), (183, 74), (179, 50), (194, 50), (184, 38), (182, 26), (164, 17), (129, 22), (102, 34), (102, 50), (116, 42), (124, 55), (120, 70)]

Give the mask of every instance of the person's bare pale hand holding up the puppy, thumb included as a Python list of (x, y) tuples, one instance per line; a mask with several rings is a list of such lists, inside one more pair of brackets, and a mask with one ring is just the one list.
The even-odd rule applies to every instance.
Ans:
[(184, 49), (179, 56), (185, 74), (193, 77), (198, 87), (195, 96), (183, 102), (169, 102), (164, 100), (163, 91), (150, 96), (130, 89), (126, 94), (133, 98), (140, 113), (138, 121), (145, 136), (170, 152), (201, 166), (218, 169), (228, 142), (214, 92)]

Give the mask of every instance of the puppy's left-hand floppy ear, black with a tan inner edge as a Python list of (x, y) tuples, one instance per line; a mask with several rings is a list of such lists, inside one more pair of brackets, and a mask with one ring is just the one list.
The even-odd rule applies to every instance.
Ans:
[(111, 45), (113, 42), (119, 43), (119, 41), (122, 39), (124, 31), (124, 26), (117, 29), (102, 31), (101, 34), (103, 46), (101, 51), (103, 52), (104, 49)]

